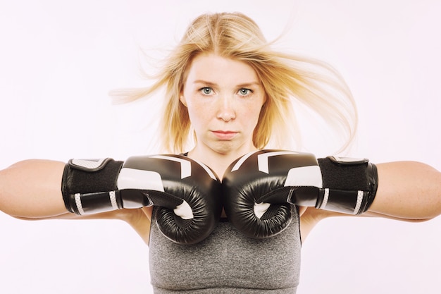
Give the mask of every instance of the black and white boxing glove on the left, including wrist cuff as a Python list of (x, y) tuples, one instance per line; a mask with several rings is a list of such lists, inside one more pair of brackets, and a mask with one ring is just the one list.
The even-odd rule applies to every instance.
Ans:
[(204, 240), (221, 216), (221, 182), (204, 164), (181, 155), (78, 160), (66, 164), (62, 188), (68, 211), (97, 214), (158, 206), (156, 224), (175, 243)]

